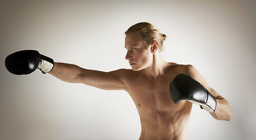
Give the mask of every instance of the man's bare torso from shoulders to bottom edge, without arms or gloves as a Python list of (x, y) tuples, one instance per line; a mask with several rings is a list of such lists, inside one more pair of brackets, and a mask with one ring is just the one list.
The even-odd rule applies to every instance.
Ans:
[(186, 139), (192, 104), (171, 99), (169, 85), (174, 77), (184, 73), (180, 65), (169, 64), (166, 73), (150, 79), (140, 71), (125, 70), (123, 81), (140, 115), (143, 139)]

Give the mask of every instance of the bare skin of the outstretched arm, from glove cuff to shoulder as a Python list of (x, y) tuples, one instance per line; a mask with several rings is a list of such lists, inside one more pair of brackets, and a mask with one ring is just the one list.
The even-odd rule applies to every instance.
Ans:
[(122, 81), (123, 71), (124, 69), (102, 72), (84, 69), (73, 64), (55, 62), (53, 69), (48, 73), (69, 83), (83, 83), (105, 90), (122, 90), (126, 89), (126, 84)]

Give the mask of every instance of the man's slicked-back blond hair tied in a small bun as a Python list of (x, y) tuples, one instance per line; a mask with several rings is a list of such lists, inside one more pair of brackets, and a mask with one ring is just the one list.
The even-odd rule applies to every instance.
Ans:
[(139, 34), (142, 40), (147, 46), (153, 44), (154, 42), (159, 43), (159, 50), (163, 51), (163, 42), (166, 40), (166, 34), (162, 34), (159, 29), (153, 24), (147, 22), (140, 22), (129, 27), (129, 29), (124, 33), (126, 36), (129, 34)]

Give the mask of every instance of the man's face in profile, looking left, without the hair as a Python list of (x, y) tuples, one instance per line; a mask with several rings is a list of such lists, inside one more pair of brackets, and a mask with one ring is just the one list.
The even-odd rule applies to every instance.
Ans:
[(150, 47), (137, 34), (130, 34), (125, 37), (124, 47), (127, 49), (125, 59), (129, 60), (133, 71), (139, 71), (150, 67), (153, 62), (153, 55)]

